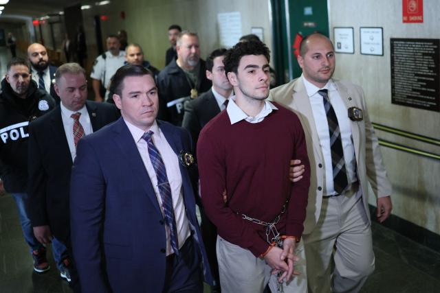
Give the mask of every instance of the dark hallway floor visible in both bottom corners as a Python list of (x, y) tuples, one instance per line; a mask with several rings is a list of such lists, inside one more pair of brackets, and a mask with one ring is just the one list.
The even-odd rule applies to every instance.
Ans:
[[(376, 270), (362, 293), (434, 293), (440, 288), (440, 253), (373, 223)], [(71, 292), (48, 249), (51, 270), (36, 274), (25, 244), (14, 200), (0, 198), (0, 292)], [(436, 289), (437, 288), (437, 289)], [(208, 292), (208, 291), (206, 291)]]

